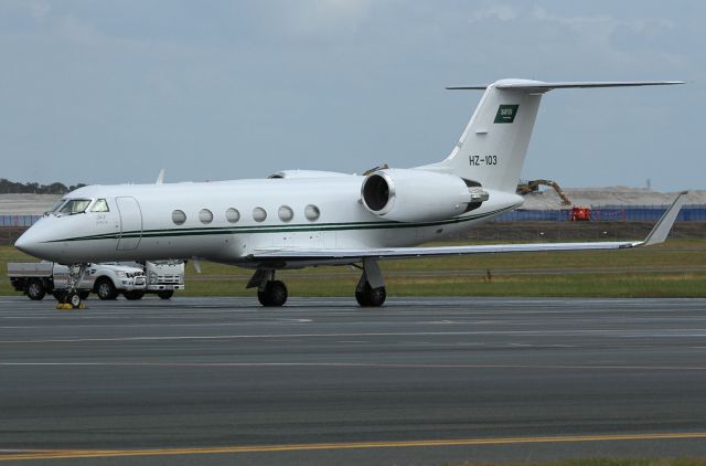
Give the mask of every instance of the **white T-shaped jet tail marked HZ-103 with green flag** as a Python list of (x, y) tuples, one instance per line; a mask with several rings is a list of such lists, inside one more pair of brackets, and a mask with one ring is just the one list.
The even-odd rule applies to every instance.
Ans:
[(441, 162), (419, 168), (453, 173), (484, 188), (514, 193), (544, 93), (555, 88), (664, 84), (682, 82), (544, 83), (502, 80), (489, 86), (447, 87), (485, 89), (485, 93), (451, 153)]

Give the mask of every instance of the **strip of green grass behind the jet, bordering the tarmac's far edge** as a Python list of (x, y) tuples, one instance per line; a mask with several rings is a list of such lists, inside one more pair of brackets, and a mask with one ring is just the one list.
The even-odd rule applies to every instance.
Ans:
[[(458, 243), (457, 243), (458, 244)], [(15, 295), (7, 262), (34, 261), (0, 247), (0, 295)], [(391, 296), (706, 297), (706, 240), (671, 240), (630, 251), (515, 253), (383, 261)], [(186, 267), (184, 296), (253, 296), (252, 271), (203, 262)], [(490, 271), (490, 279), (488, 272)], [(278, 273), (292, 296), (351, 296), (360, 271)]]

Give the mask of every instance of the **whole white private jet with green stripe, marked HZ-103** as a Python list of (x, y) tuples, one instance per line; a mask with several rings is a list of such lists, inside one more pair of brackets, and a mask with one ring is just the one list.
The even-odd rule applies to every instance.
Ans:
[[(680, 195), (639, 242), (411, 247), (470, 229), (522, 205), (515, 194), (542, 96), (571, 87), (622, 87), (678, 82), (545, 83), (502, 80), (484, 89), (471, 120), (442, 161), (376, 168), (363, 176), (281, 171), (268, 179), (203, 183), (90, 186), (64, 197), (15, 246), (72, 265), (79, 282), (89, 262), (204, 258), (255, 271), (264, 306), (281, 306), (284, 268), (353, 265), (355, 298), (381, 306), (385, 258), (526, 251), (620, 250), (663, 242)], [(77, 307), (75, 286), (67, 303)]]

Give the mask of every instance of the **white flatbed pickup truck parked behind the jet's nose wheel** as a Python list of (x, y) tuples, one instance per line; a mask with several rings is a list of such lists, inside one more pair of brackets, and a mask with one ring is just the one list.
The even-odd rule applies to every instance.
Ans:
[[(43, 299), (51, 293), (61, 300), (66, 289), (68, 267), (52, 262), (8, 263), (8, 277), (14, 289), (30, 299)], [(78, 284), (78, 295), (85, 299), (94, 292), (100, 299), (115, 299), (119, 293), (139, 293), (146, 287), (147, 277), (141, 267), (89, 264), (84, 279)]]

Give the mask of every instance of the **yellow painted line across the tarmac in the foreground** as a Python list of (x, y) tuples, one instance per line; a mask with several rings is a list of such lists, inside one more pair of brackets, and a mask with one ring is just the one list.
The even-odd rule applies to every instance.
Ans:
[(662, 434), (567, 435), (546, 437), (450, 438), (408, 442), (343, 442), (290, 445), (215, 446), (203, 448), (146, 448), (146, 449), (31, 449), (0, 452), (1, 460), (99, 458), (116, 456), (212, 455), (223, 453), (303, 452), (365, 448), (409, 448), (437, 446), (484, 446), (571, 442), (617, 442), (706, 438), (706, 432), (673, 432)]

